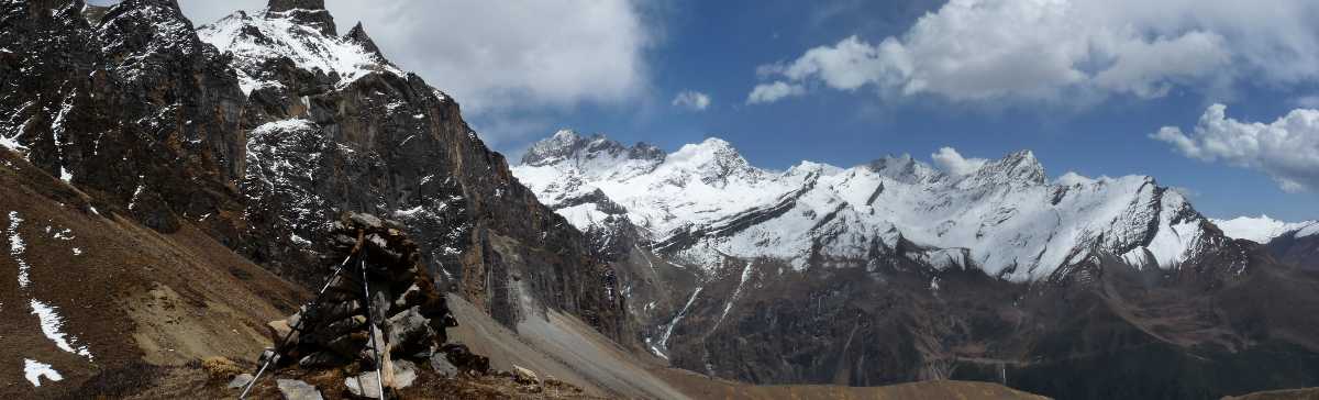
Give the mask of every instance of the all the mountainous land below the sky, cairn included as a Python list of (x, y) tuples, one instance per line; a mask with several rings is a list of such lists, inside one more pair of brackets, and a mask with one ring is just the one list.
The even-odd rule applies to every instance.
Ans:
[(1029, 150), (780, 172), (563, 131), (510, 166), (323, 0), (96, 4), (0, 0), (0, 396), (1319, 385), (1314, 222)]

